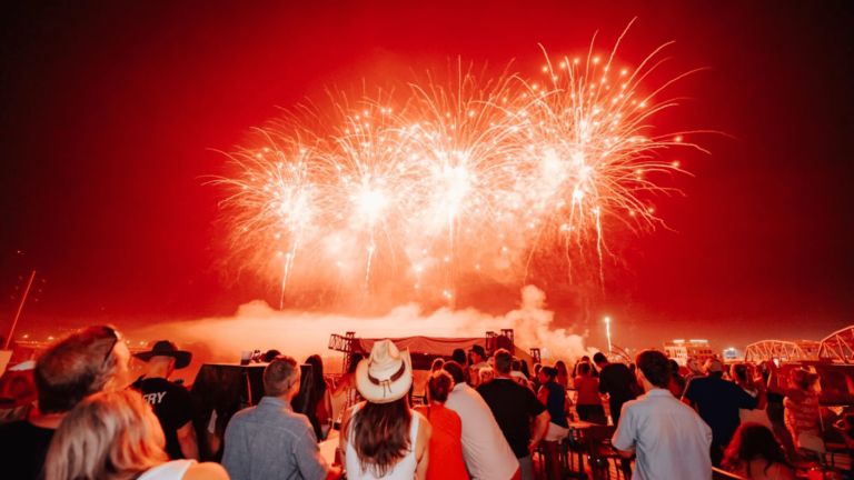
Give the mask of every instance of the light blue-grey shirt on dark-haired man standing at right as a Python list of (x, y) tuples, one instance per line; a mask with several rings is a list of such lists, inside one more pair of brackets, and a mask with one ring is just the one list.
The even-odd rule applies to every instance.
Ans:
[(712, 479), (712, 429), (667, 390), (626, 402), (612, 443), (636, 449), (635, 480)]

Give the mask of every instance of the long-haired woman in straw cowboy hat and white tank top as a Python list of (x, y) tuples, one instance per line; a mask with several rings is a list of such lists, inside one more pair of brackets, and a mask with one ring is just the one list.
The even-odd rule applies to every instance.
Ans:
[(355, 378), (366, 401), (341, 419), (347, 479), (425, 480), (431, 429), (406, 400), (413, 384), (409, 352), (380, 340), (370, 358), (359, 363)]

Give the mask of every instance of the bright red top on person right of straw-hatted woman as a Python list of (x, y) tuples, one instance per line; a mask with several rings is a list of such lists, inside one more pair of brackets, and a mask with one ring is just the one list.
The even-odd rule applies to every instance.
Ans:
[(445, 406), (421, 409), (433, 427), (427, 480), (469, 480), (463, 460), (463, 420)]

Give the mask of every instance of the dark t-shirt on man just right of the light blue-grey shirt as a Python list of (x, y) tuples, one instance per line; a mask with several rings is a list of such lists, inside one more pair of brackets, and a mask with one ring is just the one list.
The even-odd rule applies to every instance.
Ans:
[(737, 384), (714, 377), (693, 379), (685, 398), (697, 404), (699, 417), (712, 429), (712, 444), (716, 446), (729, 444), (742, 423), (738, 410), (753, 410), (757, 403)]

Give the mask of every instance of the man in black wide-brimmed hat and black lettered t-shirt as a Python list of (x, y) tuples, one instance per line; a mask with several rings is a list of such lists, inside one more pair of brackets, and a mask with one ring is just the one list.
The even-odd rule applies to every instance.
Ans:
[(181, 351), (169, 340), (155, 343), (151, 351), (133, 357), (148, 363), (146, 374), (133, 383), (155, 408), (166, 433), (166, 452), (172, 460), (199, 460), (199, 443), (192, 428), (192, 400), (182, 386), (169, 381), (175, 370), (187, 368), (192, 353)]

